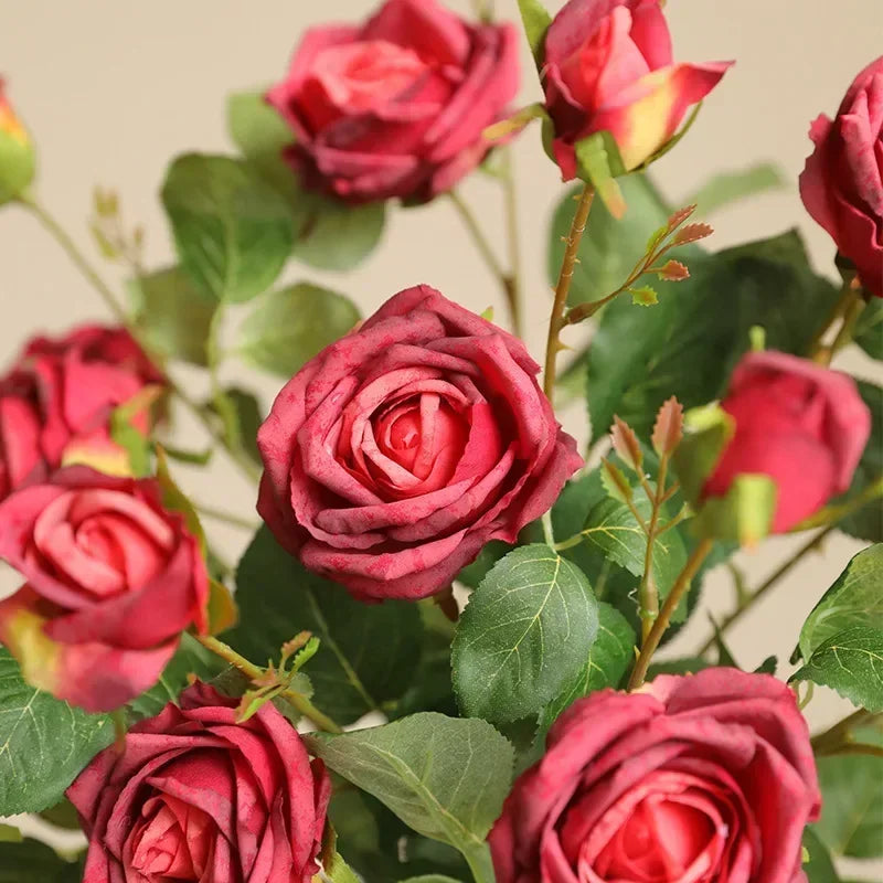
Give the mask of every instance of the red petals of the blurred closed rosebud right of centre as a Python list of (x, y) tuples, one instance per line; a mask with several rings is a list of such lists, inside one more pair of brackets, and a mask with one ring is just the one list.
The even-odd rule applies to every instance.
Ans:
[(871, 434), (852, 377), (781, 352), (745, 355), (721, 407), (736, 432), (703, 496), (725, 496), (740, 475), (769, 476), (778, 489), (776, 533), (849, 489)]

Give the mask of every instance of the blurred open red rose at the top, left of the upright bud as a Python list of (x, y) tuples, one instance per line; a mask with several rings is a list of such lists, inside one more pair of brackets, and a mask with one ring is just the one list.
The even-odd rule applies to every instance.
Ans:
[(483, 158), (482, 130), (519, 82), (518, 33), (435, 0), (387, 0), (361, 28), (307, 32), (267, 93), (295, 134), (286, 158), (348, 202), (426, 200)]

